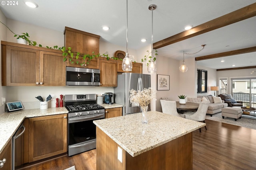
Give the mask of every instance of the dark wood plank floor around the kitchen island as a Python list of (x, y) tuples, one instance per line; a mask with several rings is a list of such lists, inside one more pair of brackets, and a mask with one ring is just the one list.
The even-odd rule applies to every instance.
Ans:
[[(256, 130), (206, 119), (193, 132), (193, 170), (256, 170)], [(256, 124), (255, 124), (256, 125)], [(62, 156), (24, 170), (96, 170), (96, 149)]]

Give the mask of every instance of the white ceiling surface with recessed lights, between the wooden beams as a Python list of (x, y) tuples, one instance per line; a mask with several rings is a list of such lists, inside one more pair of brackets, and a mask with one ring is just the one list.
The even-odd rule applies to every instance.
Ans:
[[(7, 18), (41, 27), (64, 31), (72, 27), (100, 35), (106, 41), (126, 47), (126, 0), (30, 0), (38, 4), (32, 9), (18, 1), (17, 6), (1, 5), (0, 10)], [(150, 4), (156, 4), (153, 11), (153, 43), (184, 31), (185, 25), (200, 25), (245, 6), (256, 0), (128, 0), (128, 47), (140, 49), (151, 43)], [(108, 25), (108, 31), (102, 30)], [(206, 44), (205, 49), (188, 57), (200, 57), (256, 46), (256, 17), (210, 31), (162, 47), (159, 55), (182, 60), (183, 51), (194, 53)], [(142, 43), (140, 39), (146, 38)], [(229, 46), (229, 47), (226, 47)], [(210, 68), (231, 68), (255, 66), (256, 53), (198, 61)], [(210, 61), (210, 62), (209, 62)]]

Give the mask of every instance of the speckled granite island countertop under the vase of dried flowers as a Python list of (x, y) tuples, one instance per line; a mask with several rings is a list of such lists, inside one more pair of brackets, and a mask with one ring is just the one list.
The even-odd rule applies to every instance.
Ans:
[(134, 113), (93, 122), (133, 157), (206, 125), (158, 111), (148, 111), (147, 124), (141, 123), (140, 116)]

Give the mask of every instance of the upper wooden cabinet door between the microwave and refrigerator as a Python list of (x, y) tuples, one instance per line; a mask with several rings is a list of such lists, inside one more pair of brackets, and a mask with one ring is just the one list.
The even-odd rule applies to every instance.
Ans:
[(117, 64), (116, 61), (100, 60), (100, 85), (117, 86)]

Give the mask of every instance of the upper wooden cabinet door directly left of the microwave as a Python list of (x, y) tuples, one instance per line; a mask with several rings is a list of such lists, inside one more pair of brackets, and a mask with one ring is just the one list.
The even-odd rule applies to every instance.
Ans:
[(40, 86), (66, 86), (62, 53), (40, 51)]

